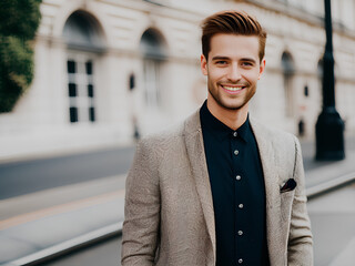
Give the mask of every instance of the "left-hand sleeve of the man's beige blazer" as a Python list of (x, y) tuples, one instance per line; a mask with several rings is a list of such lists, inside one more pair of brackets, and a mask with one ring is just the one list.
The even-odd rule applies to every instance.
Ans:
[(154, 145), (141, 141), (125, 183), (122, 266), (154, 264), (160, 227), (158, 162)]

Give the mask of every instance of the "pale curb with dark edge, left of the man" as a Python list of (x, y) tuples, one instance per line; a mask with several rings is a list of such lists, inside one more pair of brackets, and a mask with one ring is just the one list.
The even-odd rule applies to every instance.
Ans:
[(18, 258), (16, 260), (4, 264), (3, 266), (37, 265), (39, 263), (50, 260), (60, 255), (68, 254), (84, 246), (100, 242), (102, 239), (106, 239), (109, 237), (119, 235), (122, 233), (122, 225), (123, 222), (108, 225), (105, 227), (89, 232), (81, 236), (60, 243), (58, 245), (44, 248), (40, 252)]

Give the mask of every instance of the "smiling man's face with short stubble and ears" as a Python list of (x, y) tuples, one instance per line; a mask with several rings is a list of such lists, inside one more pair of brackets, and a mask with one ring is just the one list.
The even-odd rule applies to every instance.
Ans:
[(224, 110), (247, 109), (265, 68), (265, 60), (260, 62), (258, 58), (258, 38), (219, 33), (211, 38), (210, 48), (207, 61), (201, 55), (209, 104)]

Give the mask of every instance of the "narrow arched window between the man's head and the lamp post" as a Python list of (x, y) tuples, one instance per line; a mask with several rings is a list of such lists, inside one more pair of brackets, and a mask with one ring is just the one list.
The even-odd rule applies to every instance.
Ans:
[(288, 52), (283, 52), (281, 59), (285, 101), (286, 101), (286, 116), (292, 117), (294, 115), (294, 99), (293, 99), (293, 75), (295, 73), (295, 65), (293, 59)]

